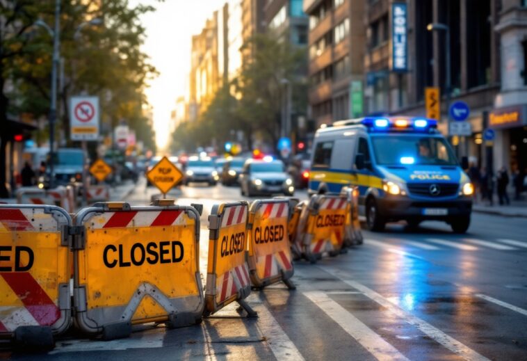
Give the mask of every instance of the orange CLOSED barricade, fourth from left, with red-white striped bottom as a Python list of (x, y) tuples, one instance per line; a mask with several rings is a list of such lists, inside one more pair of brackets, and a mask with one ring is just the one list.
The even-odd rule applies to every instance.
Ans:
[(289, 200), (256, 200), (249, 216), (249, 269), (252, 284), (263, 288), (284, 282), (295, 289), (289, 246)]

